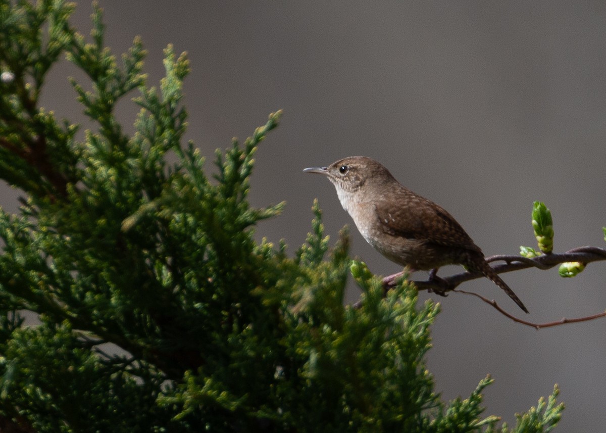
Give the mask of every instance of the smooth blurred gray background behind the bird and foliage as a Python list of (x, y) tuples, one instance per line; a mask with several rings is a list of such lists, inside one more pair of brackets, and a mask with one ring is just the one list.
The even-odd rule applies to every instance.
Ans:
[[(553, 213), (557, 251), (605, 246), (602, 2), (100, 4), (114, 53), (142, 36), (148, 84), (164, 74), (168, 43), (188, 52), (187, 137), (208, 158), (284, 109), (281, 126), (259, 148), (251, 202), (287, 201), (284, 214), (257, 232), (284, 238), (291, 254), (310, 230), (316, 197), (332, 240), (351, 226), (331, 184), (301, 171), (349, 155), (378, 159), (401, 183), (441, 204), (487, 255), (536, 245), (534, 200)], [(91, 11), (79, 2), (73, 24), (82, 33), (90, 30)], [(44, 106), (95, 127), (67, 76), (87, 82), (62, 62), (52, 70)], [(138, 107), (125, 101), (118, 112), (132, 130)], [(0, 204), (15, 210), (19, 192), (3, 186), (1, 193)], [(375, 274), (401, 270), (351, 228), (351, 253)], [(573, 279), (559, 278), (557, 268), (504, 275), (530, 309), (525, 318), (538, 323), (604, 310), (605, 278), (601, 262)], [(523, 314), (488, 280), (463, 288)], [(356, 297), (352, 289), (350, 300)], [(606, 428), (606, 319), (535, 331), (473, 297), (437, 300), (442, 314), (427, 361), (445, 400), (468, 397), (490, 373), (496, 383), (485, 392), (485, 415), (512, 423), (515, 412), (558, 383), (567, 407), (559, 431)]]

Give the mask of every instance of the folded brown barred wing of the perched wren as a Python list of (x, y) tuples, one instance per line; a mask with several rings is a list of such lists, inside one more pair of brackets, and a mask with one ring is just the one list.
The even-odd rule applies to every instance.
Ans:
[(407, 206), (375, 207), (379, 223), (385, 233), (481, 252), (453, 216), (433, 201), (410, 190), (392, 193), (386, 197), (386, 200), (390, 203), (407, 203)]

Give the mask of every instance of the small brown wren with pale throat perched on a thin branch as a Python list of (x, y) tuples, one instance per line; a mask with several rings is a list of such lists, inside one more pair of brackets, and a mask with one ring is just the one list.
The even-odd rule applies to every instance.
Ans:
[(450, 213), (402, 186), (374, 159), (349, 156), (303, 171), (328, 176), (364, 239), (389, 260), (410, 272), (433, 270), (431, 275), (440, 266), (462, 264), (493, 281), (528, 312)]

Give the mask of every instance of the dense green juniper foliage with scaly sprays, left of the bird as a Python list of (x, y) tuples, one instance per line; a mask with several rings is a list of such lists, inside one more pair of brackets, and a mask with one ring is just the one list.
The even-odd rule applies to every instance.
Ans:
[[(148, 87), (135, 39), (116, 59), (94, 5), (90, 42), (61, 0), (0, 1), (0, 177), (27, 198), (0, 211), (0, 428), (21, 432), (546, 432), (558, 389), (513, 429), (482, 415), (480, 381), (450, 402), (424, 356), (439, 308), (329, 248), (318, 203), (307, 243), (258, 243), (284, 203), (247, 202), (255, 151), (281, 112), (216, 152), (209, 178), (183, 143), (187, 56), (165, 50)], [(39, 106), (64, 56), (95, 129)], [(90, 90), (85, 90), (90, 89)], [(118, 101), (141, 107), (127, 135)], [(130, 96), (127, 96), (130, 95)], [(167, 158), (171, 155), (171, 158)], [(175, 162), (169, 162), (175, 161)], [(353, 275), (361, 307), (344, 306)], [(25, 326), (22, 312), (39, 315)], [(108, 349), (108, 343), (112, 346)]]

